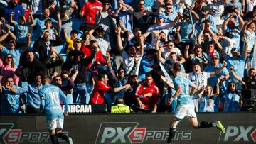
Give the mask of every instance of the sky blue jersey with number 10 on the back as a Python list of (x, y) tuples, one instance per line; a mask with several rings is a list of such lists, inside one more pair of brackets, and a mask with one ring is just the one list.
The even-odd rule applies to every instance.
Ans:
[(41, 112), (46, 109), (46, 119), (64, 118), (60, 98), (63, 99), (65, 104), (65, 111), (68, 111), (68, 100), (60, 88), (52, 84), (46, 84), (39, 89), (38, 94), (41, 97)]

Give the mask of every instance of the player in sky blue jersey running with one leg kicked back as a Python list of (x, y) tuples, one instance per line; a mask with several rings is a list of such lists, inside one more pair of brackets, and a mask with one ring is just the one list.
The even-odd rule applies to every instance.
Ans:
[[(220, 121), (217, 121), (216, 123), (209, 123), (206, 121), (198, 122), (195, 112), (195, 105), (193, 104), (191, 97), (196, 92), (196, 85), (186, 77), (183, 77), (181, 72), (181, 65), (179, 63), (174, 64), (173, 73), (175, 76), (174, 87), (176, 89), (176, 93), (168, 101), (166, 101), (166, 105), (171, 105), (171, 102), (176, 97), (178, 97), (178, 103), (176, 110), (174, 111), (174, 118), (171, 120), (167, 143), (171, 143), (171, 140), (174, 139), (176, 126), (185, 116), (188, 116), (188, 121), (193, 126), (193, 128), (216, 127), (225, 133), (225, 128)], [(192, 88), (191, 92), (189, 92), (190, 87)]]

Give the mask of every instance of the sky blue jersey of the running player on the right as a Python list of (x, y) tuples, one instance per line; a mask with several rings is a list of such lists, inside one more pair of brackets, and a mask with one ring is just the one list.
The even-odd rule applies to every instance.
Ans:
[(192, 98), (189, 95), (189, 87), (192, 85), (192, 82), (187, 79), (186, 77), (183, 77), (181, 75), (178, 75), (174, 79), (174, 87), (175, 90), (178, 89), (178, 86), (182, 87), (182, 92), (178, 96), (178, 104), (193, 104)]

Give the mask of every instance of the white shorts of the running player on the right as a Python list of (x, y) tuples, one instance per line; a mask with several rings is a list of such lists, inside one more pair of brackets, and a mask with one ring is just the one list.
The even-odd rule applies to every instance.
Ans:
[(197, 118), (194, 104), (178, 104), (174, 116), (178, 119), (183, 119), (185, 116)]

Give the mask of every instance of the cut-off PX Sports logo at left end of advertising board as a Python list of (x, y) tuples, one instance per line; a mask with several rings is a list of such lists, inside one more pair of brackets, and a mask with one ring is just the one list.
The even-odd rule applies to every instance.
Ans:
[(14, 123), (0, 123), (0, 144), (46, 143), (50, 140), (48, 132), (23, 132), (21, 129), (12, 129), (13, 127)]

